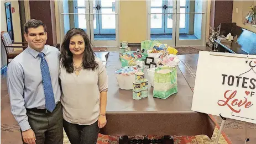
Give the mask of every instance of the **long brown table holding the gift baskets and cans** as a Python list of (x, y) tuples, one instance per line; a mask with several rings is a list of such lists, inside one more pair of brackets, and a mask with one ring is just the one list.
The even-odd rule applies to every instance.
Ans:
[(140, 100), (132, 99), (132, 90), (119, 89), (114, 74), (118, 68), (121, 68), (119, 53), (109, 52), (106, 66), (109, 78), (107, 124), (100, 130), (101, 134), (212, 137), (215, 123), (207, 114), (191, 111), (193, 93), (179, 68), (178, 93), (167, 99), (153, 98), (153, 87), (149, 83), (148, 98)]

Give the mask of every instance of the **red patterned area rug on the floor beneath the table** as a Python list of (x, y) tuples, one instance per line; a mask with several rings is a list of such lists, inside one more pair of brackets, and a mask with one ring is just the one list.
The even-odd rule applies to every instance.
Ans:
[[(198, 135), (198, 136), (174, 136), (174, 144), (214, 144), (215, 139), (218, 135), (218, 127), (215, 127), (215, 130), (213, 132), (212, 138), (209, 138), (206, 135)], [(109, 135), (98, 135), (98, 141), (97, 144), (117, 144), (118, 143), (119, 136), (109, 136)], [(129, 138), (142, 138), (143, 136), (129, 136)], [(155, 136), (155, 135), (148, 135), (148, 138), (161, 138), (161, 136)], [(64, 143), (70, 144), (69, 139), (67, 138), (65, 131), (64, 131)], [(231, 144), (226, 141), (226, 139), (221, 135), (220, 140), (218, 141), (218, 144)]]

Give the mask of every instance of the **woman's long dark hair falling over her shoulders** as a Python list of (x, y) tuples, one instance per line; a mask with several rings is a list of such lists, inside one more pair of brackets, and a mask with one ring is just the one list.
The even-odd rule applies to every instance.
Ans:
[(67, 31), (67, 34), (65, 35), (65, 38), (60, 48), (60, 60), (62, 66), (66, 68), (66, 71), (68, 73), (74, 72), (73, 54), (69, 50), (70, 39), (74, 35), (81, 35), (83, 37), (83, 40), (85, 40), (85, 51), (83, 52), (82, 58), (83, 68), (95, 70), (95, 68), (98, 68), (98, 63), (95, 61), (95, 53), (92, 50), (91, 41), (89, 40), (85, 31), (80, 28), (72, 28), (69, 31)]

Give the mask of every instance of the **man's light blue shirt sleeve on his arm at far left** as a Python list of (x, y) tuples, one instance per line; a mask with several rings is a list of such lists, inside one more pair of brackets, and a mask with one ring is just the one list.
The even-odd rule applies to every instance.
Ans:
[(24, 74), (23, 68), (18, 62), (12, 61), (7, 68), (7, 87), (11, 102), (11, 111), (14, 118), (19, 123), (22, 131), (29, 130), (31, 127), (28, 122), (27, 110), (23, 98), (24, 93)]

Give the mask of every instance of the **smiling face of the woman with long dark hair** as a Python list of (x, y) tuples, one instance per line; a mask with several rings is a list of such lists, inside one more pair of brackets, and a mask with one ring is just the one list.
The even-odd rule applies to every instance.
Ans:
[(85, 51), (85, 40), (81, 35), (74, 35), (69, 42), (69, 50), (73, 55), (82, 55)]

